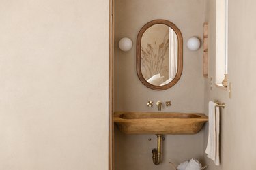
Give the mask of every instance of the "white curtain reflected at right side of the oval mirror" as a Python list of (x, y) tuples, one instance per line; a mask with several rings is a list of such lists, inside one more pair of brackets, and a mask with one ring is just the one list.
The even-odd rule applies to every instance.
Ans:
[[(169, 79), (173, 80), (177, 73), (177, 35), (169, 27)], [(170, 81), (171, 82), (171, 81)]]

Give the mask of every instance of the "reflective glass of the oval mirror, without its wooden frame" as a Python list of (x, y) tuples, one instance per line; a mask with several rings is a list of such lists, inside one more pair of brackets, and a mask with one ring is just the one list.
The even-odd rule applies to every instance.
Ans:
[(155, 86), (168, 84), (177, 73), (177, 35), (165, 24), (154, 24), (141, 38), (141, 72)]

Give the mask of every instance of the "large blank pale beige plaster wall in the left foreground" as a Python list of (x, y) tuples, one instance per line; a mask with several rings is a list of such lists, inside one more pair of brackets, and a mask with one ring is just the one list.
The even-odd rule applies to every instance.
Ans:
[(109, 1), (1, 1), (0, 22), (0, 169), (108, 169)]

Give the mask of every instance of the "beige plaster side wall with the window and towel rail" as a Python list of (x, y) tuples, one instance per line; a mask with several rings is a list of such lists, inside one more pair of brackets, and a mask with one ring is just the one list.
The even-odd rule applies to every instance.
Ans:
[[(210, 77), (215, 77), (215, 2), (206, 1), (206, 17), (209, 22)], [(219, 99), (226, 103), (221, 113), (221, 166), (216, 167), (205, 157), (210, 170), (256, 169), (256, 23), (253, 0), (229, 1), (229, 82), (228, 92), (213, 87), (205, 79), (205, 112), (208, 101)], [(205, 133), (205, 141), (208, 134)], [(205, 143), (206, 145), (206, 143)]]

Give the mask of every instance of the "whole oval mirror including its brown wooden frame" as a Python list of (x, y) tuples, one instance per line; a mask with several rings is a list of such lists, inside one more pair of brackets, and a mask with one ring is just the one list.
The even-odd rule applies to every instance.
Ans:
[(137, 37), (137, 75), (153, 90), (174, 86), (182, 75), (183, 40), (180, 30), (168, 20), (152, 20)]

